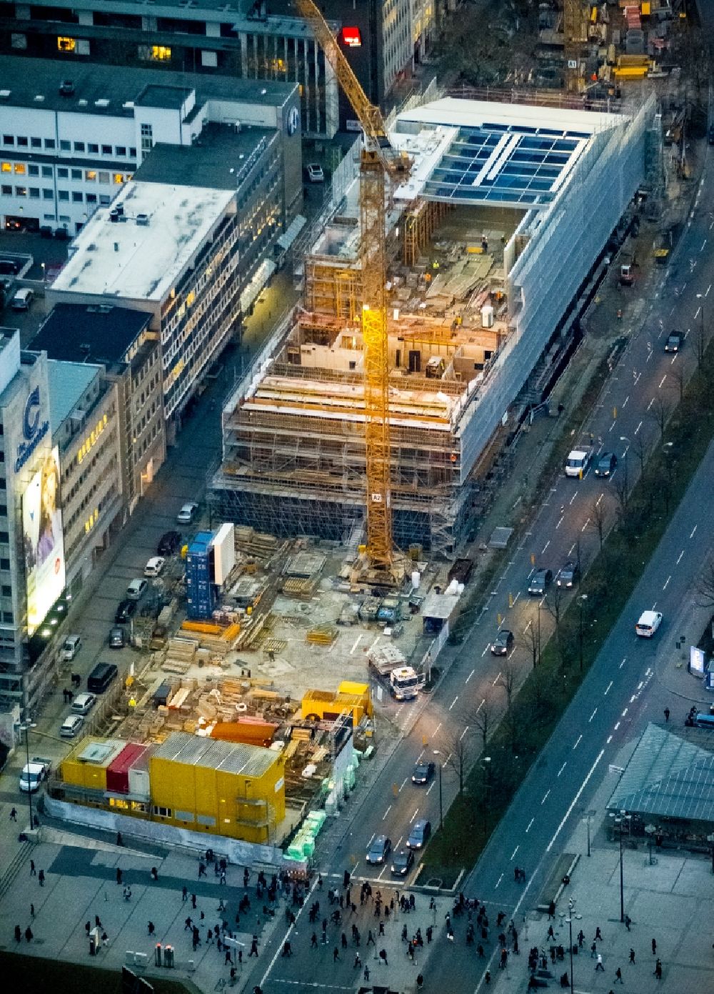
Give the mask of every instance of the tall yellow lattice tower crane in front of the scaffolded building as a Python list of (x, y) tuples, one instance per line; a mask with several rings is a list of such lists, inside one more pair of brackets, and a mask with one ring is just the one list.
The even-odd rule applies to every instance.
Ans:
[(312, 26), (363, 131), (359, 158), (359, 263), (364, 359), (366, 547), (369, 568), (387, 580), (392, 574), (392, 533), (384, 198), (387, 180), (406, 180), (410, 162), (390, 145), (379, 107), (367, 99), (352, 66), (313, 0), (296, 0), (296, 4)]

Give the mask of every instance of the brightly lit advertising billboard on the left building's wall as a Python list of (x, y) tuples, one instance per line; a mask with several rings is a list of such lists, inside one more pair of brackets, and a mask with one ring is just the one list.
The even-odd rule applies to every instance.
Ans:
[(60, 450), (43, 459), (22, 498), (27, 581), (27, 628), (32, 636), (65, 589), (65, 543), (60, 494)]

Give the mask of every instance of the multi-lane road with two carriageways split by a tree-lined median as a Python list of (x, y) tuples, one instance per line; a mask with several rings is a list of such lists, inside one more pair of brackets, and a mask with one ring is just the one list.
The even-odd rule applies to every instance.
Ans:
[[(387, 835), (398, 848), (415, 818), (429, 818), (432, 825), (438, 824), (438, 782), (433, 780), (427, 788), (412, 785), (414, 762), (420, 756), (444, 761), (454, 743), (462, 737), (478, 735), (473, 724), (482, 702), (489, 701), (492, 708), (502, 705), (502, 658), (493, 657), (489, 651), (498, 629), (498, 615), (505, 619), (503, 626), (516, 634), (509, 665), (521, 667), (523, 673), (530, 668), (530, 651), (522, 633), (537, 620), (538, 600), (527, 594), (533, 570), (531, 557), (537, 567), (548, 567), (553, 573), (567, 559), (578, 556), (587, 569), (600, 545), (594, 507), (603, 505), (610, 523), (617, 503), (614, 490), (625, 472), (626, 460), (632, 486), (640, 470), (639, 457), (634, 456), (641, 439), (647, 448), (658, 444), (661, 410), (670, 411), (678, 402), (680, 370), (683, 368), (686, 378), (694, 369), (696, 340), (699, 329), (705, 327), (704, 309), (713, 296), (714, 192), (708, 186), (711, 171), (711, 163), (707, 162), (694, 210), (663, 287), (661, 274), (651, 273), (639, 287), (643, 304), (636, 308), (632, 328), (626, 312), (623, 331), (628, 334), (627, 348), (595, 412), (583, 424), (583, 435), (574, 439), (574, 443), (589, 440), (592, 432), (598, 452), (614, 451), (619, 457), (614, 476), (603, 479), (590, 472), (583, 480), (564, 476), (554, 480), (464, 644), (459, 649), (445, 650), (447, 666), (437, 690), (413, 710), (408, 706), (405, 709), (405, 715), (409, 715), (403, 723), (407, 733), (393, 747), (368, 797), (348, 813), (349, 826), (325, 870), (342, 873), (352, 864), (357, 876), (376, 879), (384, 885), (390, 879), (388, 866), (377, 872), (378, 868), (368, 866), (364, 860), (371, 838), (375, 834)], [(672, 329), (687, 333), (683, 350), (674, 355), (663, 349)], [(468, 878), (467, 893), (494, 902), (509, 914), (520, 903), (532, 901), (543, 875), (558, 855), (568, 819), (583, 807), (602, 764), (607, 768), (609, 752), (614, 754), (623, 738), (632, 734), (640, 703), (654, 679), (658, 647), (685, 609), (682, 605), (687, 589), (711, 545), (714, 508), (708, 496), (713, 468), (714, 454), (710, 451), (576, 699)], [(646, 642), (635, 635), (635, 621), (644, 608), (653, 606), (663, 612), (664, 622), (655, 639)], [(545, 612), (541, 611), (541, 624), (544, 621)], [(449, 776), (447, 763), (443, 779), (445, 808), (456, 789), (456, 776), (453, 771)], [(514, 883), (514, 866), (527, 870), (525, 889)], [(465, 954), (455, 956), (451, 947), (445, 953), (447, 964), (437, 953), (433, 969), (438, 974), (443, 968), (458, 978), (458, 964)], [(278, 961), (265, 978), (266, 983), (271, 978), (280, 979), (281, 970), (286, 969)], [(469, 969), (470, 974), (461, 974), (462, 979), (473, 976), (473, 959)], [(289, 972), (300, 976), (300, 962), (291, 961)], [(339, 985), (337, 980), (335, 983)]]

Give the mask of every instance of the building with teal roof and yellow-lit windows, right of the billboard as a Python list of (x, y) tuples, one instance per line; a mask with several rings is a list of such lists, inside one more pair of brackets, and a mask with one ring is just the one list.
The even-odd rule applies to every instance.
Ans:
[(48, 370), (52, 437), (60, 452), (66, 582), (76, 596), (122, 522), (119, 391), (101, 366), (50, 359)]

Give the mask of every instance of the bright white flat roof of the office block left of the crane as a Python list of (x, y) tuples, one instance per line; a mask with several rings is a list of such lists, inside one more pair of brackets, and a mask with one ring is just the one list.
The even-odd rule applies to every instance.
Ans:
[[(159, 302), (225, 213), (234, 190), (130, 180), (110, 208), (96, 211), (75, 237), (71, 256), (52, 289), (117, 299)], [(145, 216), (146, 224), (136, 219)]]

